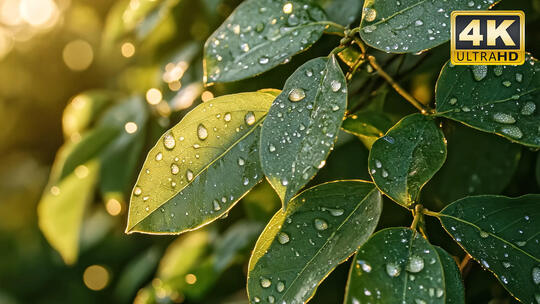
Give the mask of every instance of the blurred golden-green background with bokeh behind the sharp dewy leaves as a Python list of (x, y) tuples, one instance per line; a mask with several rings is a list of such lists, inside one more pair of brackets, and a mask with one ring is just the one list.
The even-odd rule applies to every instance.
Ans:
[[(318, 2), (323, 6), (332, 2), (344, 5), (340, 1)], [(134, 300), (247, 303), (245, 276), (250, 251), (258, 233), (279, 208), (275, 194), (266, 183), (257, 186), (226, 218), (201, 231), (180, 237), (124, 234), (127, 194), (145, 151), (164, 130), (177, 123), (194, 105), (213, 96), (268, 87), (280, 89), (298, 65), (307, 58), (328, 54), (339, 41), (335, 36), (325, 36), (289, 64), (255, 79), (204, 88), (201, 59), (204, 41), (239, 2), (0, 0), (1, 304)], [(357, 7), (360, 5), (361, 1)], [(527, 50), (538, 55), (540, 32), (536, 29), (540, 28), (540, 1), (503, 1), (497, 8), (525, 10)], [(352, 13), (358, 20), (360, 9)], [(403, 67), (415, 66), (422, 59), (418, 73), (399, 75), (400, 81), (419, 100), (429, 102), (438, 71), (448, 54), (448, 45), (443, 45), (430, 51), (429, 56), (399, 56), (403, 57), (400, 63)], [(390, 70), (400, 61), (388, 54), (377, 53), (377, 56), (388, 62)], [(380, 79), (369, 85), (364, 81), (360, 76), (352, 80), (352, 104), (357, 100), (360, 104), (364, 102), (361, 97), (375, 88), (384, 89)], [(414, 111), (396, 94), (386, 95), (385, 108), (395, 117)], [(87, 135), (101, 130), (103, 124), (109, 126), (100, 117), (124, 112), (134, 116), (128, 115), (121, 123), (121, 132), (140, 135), (135, 141), (124, 144), (121, 139), (124, 133), (115, 133), (113, 139), (102, 144), (96, 139), (87, 140)], [(469, 132), (466, 136), (484, 136), (470, 129), (463, 131), (455, 124), (446, 127), (449, 132), (457, 129), (456, 132)], [(100, 182), (96, 182), (99, 186), (90, 187), (72, 201), (82, 204), (84, 215), (80, 233), (79, 226), (73, 226), (72, 234), (77, 236), (79, 245), (70, 260), (59, 255), (40, 230), (37, 205), (42, 194), (54, 196), (60, 191), (48, 182), (55, 180), (55, 170), (51, 173), (55, 158), (55, 166), (65, 166), (62, 157), (57, 156), (58, 149), (63, 146), (69, 150), (81, 142), (99, 150), (85, 156), (85, 161), (97, 160), (102, 174), (110, 174), (102, 175)], [(101, 150), (109, 151), (106, 147), (114, 145), (119, 147), (112, 149), (116, 158), (102, 154)], [(489, 139), (486, 145), (492, 145)], [(514, 164), (501, 169), (514, 178), (510, 181), (509, 177), (499, 188), (508, 195), (538, 192), (530, 169), (535, 166), (538, 153), (521, 151), (506, 142), (501, 145), (509, 155), (521, 154)], [(89, 150), (92, 149), (87, 147), (85, 151)], [(367, 153), (360, 140), (342, 134), (327, 166), (312, 184), (337, 178), (369, 178)], [(459, 155), (460, 151), (455, 153)], [(497, 166), (497, 163), (489, 164)], [(86, 176), (88, 168), (77, 166), (75, 174)], [(107, 181), (107, 176), (112, 181)], [(434, 209), (441, 207), (444, 201), (441, 197), (452, 187), (428, 186), (430, 193), (426, 197)], [(502, 189), (478, 191), (490, 193)], [(452, 199), (464, 195), (458, 193)], [(407, 212), (385, 202), (381, 227), (409, 225), (410, 220)], [(445, 246), (456, 256), (463, 254), (456, 245), (450, 245), (449, 238), (437, 225), (432, 226), (435, 244)], [(66, 226), (69, 230), (68, 227), (71, 226)], [(347, 263), (339, 266), (327, 278), (313, 303), (342, 301), (348, 266)], [(512, 302), (496, 280), (478, 266), (470, 270), (466, 286), (470, 303)]]

